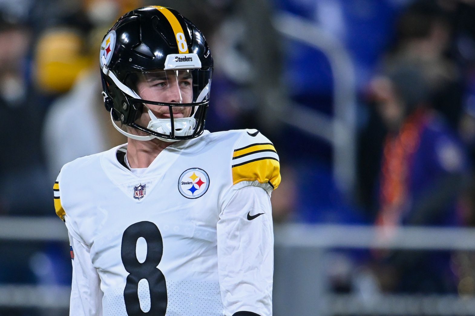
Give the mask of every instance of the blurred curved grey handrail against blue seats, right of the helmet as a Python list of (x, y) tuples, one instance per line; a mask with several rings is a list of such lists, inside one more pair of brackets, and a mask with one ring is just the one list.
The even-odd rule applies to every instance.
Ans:
[(283, 120), (286, 124), (323, 138), (333, 146), (335, 181), (342, 192), (350, 194), (356, 181), (356, 91), (350, 54), (338, 38), (299, 16), (282, 12), (276, 15), (274, 27), (285, 37), (321, 51), (330, 63), (334, 117), (293, 103), (289, 105), (291, 110), (287, 111)]

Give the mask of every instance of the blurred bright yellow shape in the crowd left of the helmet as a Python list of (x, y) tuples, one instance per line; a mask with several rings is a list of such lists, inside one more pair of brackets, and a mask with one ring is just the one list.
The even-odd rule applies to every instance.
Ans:
[(68, 91), (79, 73), (90, 66), (82, 54), (83, 40), (74, 31), (55, 29), (39, 39), (36, 48), (36, 83), (47, 93)]

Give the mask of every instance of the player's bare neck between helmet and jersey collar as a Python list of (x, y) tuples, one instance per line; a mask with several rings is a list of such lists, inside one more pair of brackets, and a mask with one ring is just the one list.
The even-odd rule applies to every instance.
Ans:
[(150, 141), (128, 139), (127, 161), (131, 168), (148, 168), (155, 158), (173, 143), (154, 138)]

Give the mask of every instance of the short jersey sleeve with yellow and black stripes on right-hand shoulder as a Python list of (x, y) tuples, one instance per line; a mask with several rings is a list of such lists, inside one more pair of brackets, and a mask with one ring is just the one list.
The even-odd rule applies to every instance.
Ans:
[(279, 156), (274, 145), (257, 130), (246, 130), (239, 138), (231, 168), (233, 185), (260, 186), (269, 194), (279, 186)]

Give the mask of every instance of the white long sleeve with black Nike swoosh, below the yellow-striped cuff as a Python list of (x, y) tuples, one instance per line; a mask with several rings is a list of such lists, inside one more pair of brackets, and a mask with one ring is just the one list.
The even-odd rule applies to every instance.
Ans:
[(274, 234), (266, 191), (234, 190), (219, 214), (217, 234), (224, 315), (272, 315)]

